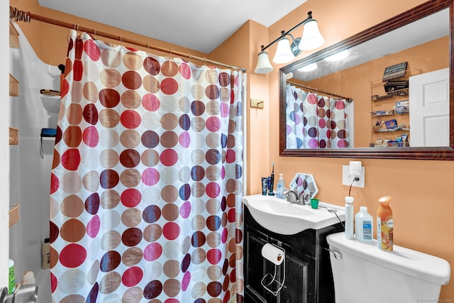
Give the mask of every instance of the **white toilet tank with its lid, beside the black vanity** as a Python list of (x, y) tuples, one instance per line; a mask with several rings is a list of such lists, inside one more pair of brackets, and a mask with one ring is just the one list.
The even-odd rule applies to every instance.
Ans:
[(446, 260), (394, 245), (377, 248), (377, 241), (348, 240), (333, 233), (328, 241), (337, 303), (438, 302), (441, 285), (448, 284)]

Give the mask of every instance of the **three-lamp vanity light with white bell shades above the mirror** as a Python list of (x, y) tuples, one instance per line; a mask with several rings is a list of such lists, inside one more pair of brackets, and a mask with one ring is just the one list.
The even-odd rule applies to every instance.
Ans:
[[(301, 38), (295, 39), (291, 32), (294, 31), (294, 29), (299, 28), (299, 26), (304, 26), (303, 35)], [(292, 43), (290, 43), (289, 38), (286, 37), (287, 35), (292, 38)], [(268, 53), (265, 52), (265, 50), (275, 43), (277, 43), (277, 50), (273, 62), (287, 63), (294, 60), (294, 58), (301, 53), (301, 50), (314, 50), (315, 48), (319, 48), (325, 43), (325, 39), (319, 31), (317, 21), (312, 18), (312, 12), (309, 11), (306, 19), (287, 32), (281, 31), (279, 38), (272, 41), (272, 43), (261, 46), (260, 53), (258, 54), (257, 66), (255, 67), (256, 74), (267, 74), (268, 72), (272, 72), (273, 67), (270, 63)]]

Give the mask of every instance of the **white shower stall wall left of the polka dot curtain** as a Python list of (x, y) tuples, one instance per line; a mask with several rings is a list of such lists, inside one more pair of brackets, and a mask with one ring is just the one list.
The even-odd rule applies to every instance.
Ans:
[[(20, 204), (20, 220), (10, 232), (9, 258), (14, 260), (16, 283), (31, 270), (38, 284), (38, 303), (52, 302), (50, 272), (42, 268), (42, 245), (49, 238), (49, 189), (54, 138), (43, 138), (41, 128), (56, 128), (60, 97), (40, 89), (60, 90), (60, 70), (35, 54), (21, 28), (20, 48), (10, 48), (10, 73), (19, 81), (18, 97), (10, 97), (11, 127), (19, 129), (18, 145), (10, 145), (10, 201)], [(44, 107), (46, 106), (46, 108)]]

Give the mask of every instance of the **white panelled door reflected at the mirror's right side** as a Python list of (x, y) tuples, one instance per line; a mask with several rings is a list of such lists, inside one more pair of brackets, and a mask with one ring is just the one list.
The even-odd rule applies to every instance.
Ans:
[(449, 69), (409, 77), (410, 146), (449, 146)]

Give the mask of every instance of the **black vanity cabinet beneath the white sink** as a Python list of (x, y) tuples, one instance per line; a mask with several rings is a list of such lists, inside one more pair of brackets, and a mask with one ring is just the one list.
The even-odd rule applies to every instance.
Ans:
[[(343, 231), (341, 223), (319, 230), (307, 229), (294, 235), (273, 233), (260, 226), (244, 207), (244, 273), (246, 303), (334, 302), (333, 275), (326, 236)], [(266, 243), (285, 251), (284, 287), (277, 295), (262, 286), (262, 278), (274, 274), (275, 264), (262, 257)], [(282, 263), (276, 280), (282, 281)], [(274, 289), (272, 289), (274, 290)]]

